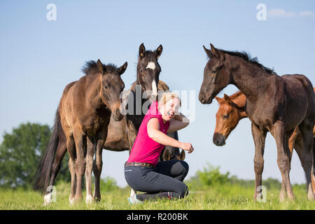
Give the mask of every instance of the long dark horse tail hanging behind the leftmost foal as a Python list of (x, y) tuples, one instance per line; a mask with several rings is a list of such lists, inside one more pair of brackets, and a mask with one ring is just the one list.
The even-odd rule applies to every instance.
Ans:
[(37, 167), (35, 174), (34, 190), (46, 190), (50, 181), (50, 172), (52, 169), (52, 162), (55, 159), (57, 146), (59, 144), (59, 130), (62, 129), (59, 107), (55, 116), (55, 124), (52, 127), (52, 135), (48, 143), (47, 149), (43, 154), (41, 161)]

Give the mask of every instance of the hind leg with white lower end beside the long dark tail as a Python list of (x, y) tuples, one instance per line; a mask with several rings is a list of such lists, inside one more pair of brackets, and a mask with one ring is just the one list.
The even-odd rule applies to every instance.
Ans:
[(66, 153), (66, 141), (60, 141), (57, 146), (56, 157), (52, 164), (51, 172), (50, 172), (50, 181), (49, 181), (49, 190), (46, 190), (44, 196), (44, 205), (49, 204), (52, 196), (52, 186), (55, 184), (55, 178), (59, 172), (61, 167), (62, 159), (64, 158), (64, 154)]

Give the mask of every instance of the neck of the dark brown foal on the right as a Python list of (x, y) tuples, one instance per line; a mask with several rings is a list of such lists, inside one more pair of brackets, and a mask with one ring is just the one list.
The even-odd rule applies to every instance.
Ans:
[(243, 92), (249, 101), (255, 100), (258, 94), (266, 92), (270, 84), (268, 78), (275, 76), (275, 74), (267, 73), (259, 66), (251, 64), (251, 62), (245, 62), (244, 59), (237, 56), (230, 57), (237, 60), (237, 64), (239, 64), (239, 67), (231, 72), (232, 83)]

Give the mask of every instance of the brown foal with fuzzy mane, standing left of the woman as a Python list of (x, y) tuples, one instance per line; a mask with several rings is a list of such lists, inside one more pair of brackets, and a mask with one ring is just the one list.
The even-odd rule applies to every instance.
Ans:
[(58, 117), (60, 119), (69, 153), (71, 204), (83, 199), (84, 174), (87, 191), (85, 202), (92, 202), (92, 170), (95, 176), (94, 199), (100, 199), (102, 148), (109, 120), (111, 114), (114, 120), (123, 119), (120, 113), (120, 92), (123, 91), (125, 84), (120, 76), (127, 69), (127, 62), (118, 68), (113, 64), (104, 66), (98, 59), (97, 62), (90, 62), (86, 69), (94, 72), (66, 85), (56, 116), (56, 120)]

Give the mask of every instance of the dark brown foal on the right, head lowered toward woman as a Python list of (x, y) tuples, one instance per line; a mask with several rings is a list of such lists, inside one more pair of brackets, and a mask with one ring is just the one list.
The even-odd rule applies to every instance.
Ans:
[[(278, 76), (272, 69), (262, 66), (257, 58), (246, 52), (227, 51), (204, 47), (209, 60), (204, 68), (199, 100), (211, 104), (216, 95), (233, 84), (246, 96), (246, 114), (251, 120), (255, 143), (255, 194), (261, 195), (265, 138), (270, 132), (276, 141), (277, 163), (282, 176), (282, 202), (286, 196), (294, 199), (290, 184), (290, 150), (288, 139), (295, 127), (302, 134), (302, 157), (307, 177), (308, 199), (314, 200), (311, 174), (314, 172), (313, 127), (315, 123), (315, 94), (306, 76), (294, 74)], [(285, 189), (285, 190), (284, 190)], [(286, 192), (286, 194), (285, 194)]]

